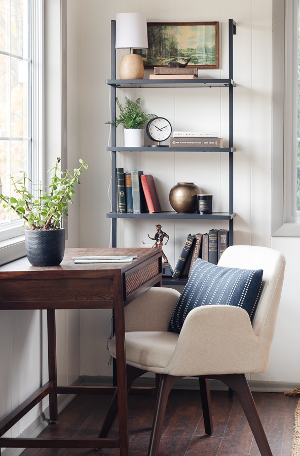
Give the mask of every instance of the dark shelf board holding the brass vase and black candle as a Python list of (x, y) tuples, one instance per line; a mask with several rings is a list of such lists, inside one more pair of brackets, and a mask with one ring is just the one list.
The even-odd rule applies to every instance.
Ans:
[(213, 212), (212, 214), (200, 215), (194, 214), (182, 214), (177, 212), (156, 212), (149, 214), (148, 212), (142, 212), (141, 214), (134, 214), (132, 212), (121, 213), (121, 212), (108, 212), (107, 218), (160, 218), (160, 219), (196, 219), (196, 220), (232, 220), (235, 217), (235, 212), (232, 214), (229, 212)]

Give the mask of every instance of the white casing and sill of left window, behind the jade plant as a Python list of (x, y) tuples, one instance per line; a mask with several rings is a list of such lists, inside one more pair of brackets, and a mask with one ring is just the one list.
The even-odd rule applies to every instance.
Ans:
[[(32, 105), (32, 138), (35, 138), (32, 140), (35, 177), (32, 177), (41, 179), (37, 176), (42, 176), (44, 180), (57, 157), (61, 157), (62, 169), (67, 169), (67, 11), (66, 0), (34, 0), (32, 4), (32, 22), (40, 18), (40, 27), (32, 29), (34, 33), (41, 33), (41, 46), (32, 56), (39, 61), (39, 66), (34, 68), (32, 84), (40, 92)], [(37, 42), (36, 36), (32, 36), (34, 43)], [(64, 228), (67, 236), (66, 222)], [(0, 264), (25, 255), (24, 234), (0, 239)]]

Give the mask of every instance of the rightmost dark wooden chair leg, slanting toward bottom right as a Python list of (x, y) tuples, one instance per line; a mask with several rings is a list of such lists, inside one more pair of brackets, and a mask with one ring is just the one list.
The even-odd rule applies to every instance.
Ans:
[[(261, 456), (272, 456), (272, 451), (267, 440), (264, 428), (262, 427), (257, 408), (250, 391), (247, 379), (244, 374), (218, 375), (224, 384), (232, 388), (243, 407), (251, 431), (257, 443)], [(216, 378), (215, 377), (215, 378)]]

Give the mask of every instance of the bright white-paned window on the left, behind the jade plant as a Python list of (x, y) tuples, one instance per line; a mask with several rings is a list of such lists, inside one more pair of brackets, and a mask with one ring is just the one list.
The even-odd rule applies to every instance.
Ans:
[[(42, 179), (42, 3), (0, 2), (0, 178), (2, 193), (13, 192), (9, 175), (26, 171)], [(22, 234), (22, 221), (0, 206), (0, 241)]]

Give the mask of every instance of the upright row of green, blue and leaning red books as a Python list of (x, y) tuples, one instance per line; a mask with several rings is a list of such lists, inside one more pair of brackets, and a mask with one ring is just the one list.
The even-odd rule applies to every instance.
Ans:
[(162, 212), (154, 178), (143, 171), (117, 168), (117, 196), (121, 213)]

